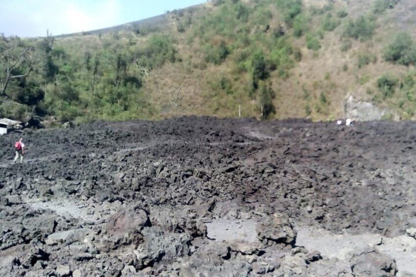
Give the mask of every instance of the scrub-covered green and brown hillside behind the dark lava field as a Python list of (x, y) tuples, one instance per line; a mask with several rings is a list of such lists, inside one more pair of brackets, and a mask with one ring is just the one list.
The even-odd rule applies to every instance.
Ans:
[(375, 117), (413, 119), (415, 11), (411, 0), (215, 0), (82, 34), (9, 38), (32, 46), (36, 63), (9, 83), (1, 115), (332, 120), (361, 101)]

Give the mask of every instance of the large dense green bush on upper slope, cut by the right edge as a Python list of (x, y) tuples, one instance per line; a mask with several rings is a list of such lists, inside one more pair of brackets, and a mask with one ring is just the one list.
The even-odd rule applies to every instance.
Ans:
[(384, 59), (401, 65), (415, 64), (416, 47), (407, 33), (399, 33), (394, 41), (384, 50)]

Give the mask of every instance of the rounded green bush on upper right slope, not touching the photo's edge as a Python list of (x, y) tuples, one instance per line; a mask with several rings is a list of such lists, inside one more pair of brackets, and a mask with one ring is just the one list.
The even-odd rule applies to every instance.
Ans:
[(374, 29), (375, 22), (373, 18), (360, 16), (355, 21), (350, 20), (348, 22), (343, 35), (364, 41), (372, 38)]

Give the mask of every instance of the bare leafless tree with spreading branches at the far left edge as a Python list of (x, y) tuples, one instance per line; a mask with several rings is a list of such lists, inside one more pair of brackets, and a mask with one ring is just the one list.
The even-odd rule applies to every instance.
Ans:
[[(0, 59), (2, 60), (0, 72), (0, 93), (5, 95), (7, 85), (13, 79), (23, 78), (33, 71), (36, 60), (32, 56), (32, 49), (24, 47), (19, 54), (14, 54), (14, 46), (12, 40), (7, 39), (1, 34), (0, 44)], [(25, 67), (24, 73), (14, 74), (20, 72)]]

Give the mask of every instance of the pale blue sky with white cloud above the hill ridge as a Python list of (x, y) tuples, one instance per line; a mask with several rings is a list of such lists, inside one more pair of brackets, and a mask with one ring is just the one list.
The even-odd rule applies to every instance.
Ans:
[(90, 31), (207, 0), (0, 0), (0, 33), (19, 37)]

